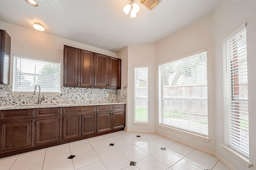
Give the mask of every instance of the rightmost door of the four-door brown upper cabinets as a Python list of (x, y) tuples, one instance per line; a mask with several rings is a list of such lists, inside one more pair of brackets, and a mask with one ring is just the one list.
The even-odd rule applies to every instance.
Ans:
[(109, 58), (109, 87), (121, 88), (121, 60)]

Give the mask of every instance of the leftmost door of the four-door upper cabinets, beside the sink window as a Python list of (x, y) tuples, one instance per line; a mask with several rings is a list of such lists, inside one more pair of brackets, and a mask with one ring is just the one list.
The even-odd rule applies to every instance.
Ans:
[(79, 49), (64, 45), (63, 86), (77, 87), (79, 74)]

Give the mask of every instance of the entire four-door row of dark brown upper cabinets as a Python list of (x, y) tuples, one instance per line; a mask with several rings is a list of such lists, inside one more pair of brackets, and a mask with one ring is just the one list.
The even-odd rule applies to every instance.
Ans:
[(63, 86), (121, 88), (121, 59), (64, 45)]

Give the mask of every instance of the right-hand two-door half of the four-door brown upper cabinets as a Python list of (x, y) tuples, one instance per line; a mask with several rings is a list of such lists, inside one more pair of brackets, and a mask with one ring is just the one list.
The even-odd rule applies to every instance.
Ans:
[(121, 60), (106, 55), (95, 55), (94, 87), (121, 88)]

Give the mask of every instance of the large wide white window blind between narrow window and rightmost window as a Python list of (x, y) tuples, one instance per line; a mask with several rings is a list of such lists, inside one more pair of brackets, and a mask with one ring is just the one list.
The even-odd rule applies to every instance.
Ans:
[(208, 136), (206, 52), (159, 65), (159, 123)]

